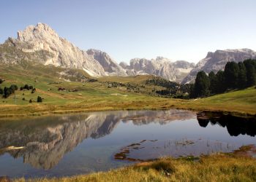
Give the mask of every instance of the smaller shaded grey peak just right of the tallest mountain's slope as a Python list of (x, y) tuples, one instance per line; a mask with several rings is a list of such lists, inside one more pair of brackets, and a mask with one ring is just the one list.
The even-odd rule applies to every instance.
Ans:
[(124, 68), (119, 66), (106, 52), (91, 49), (87, 50), (86, 53), (97, 60), (109, 76), (127, 76)]

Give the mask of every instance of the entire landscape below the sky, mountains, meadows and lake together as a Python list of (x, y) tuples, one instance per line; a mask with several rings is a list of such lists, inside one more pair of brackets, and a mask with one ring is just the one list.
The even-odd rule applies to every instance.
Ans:
[(29, 25), (0, 44), (0, 181), (255, 181), (255, 85), (247, 48), (117, 62)]

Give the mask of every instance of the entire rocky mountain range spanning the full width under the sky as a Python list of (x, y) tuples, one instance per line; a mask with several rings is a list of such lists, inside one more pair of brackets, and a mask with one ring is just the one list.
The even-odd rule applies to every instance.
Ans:
[(151, 60), (134, 58), (129, 65), (124, 62), (118, 64), (106, 52), (80, 50), (44, 23), (29, 25), (24, 31), (18, 31), (17, 39), (9, 38), (0, 45), (1, 63), (17, 64), (31, 60), (45, 65), (82, 69), (95, 77), (154, 74), (181, 83), (195, 80), (198, 71), (217, 72), (228, 61), (239, 62), (248, 58), (256, 58), (256, 52), (249, 49), (217, 50), (208, 52), (197, 65), (185, 60), (173, 62), (162, 57)]

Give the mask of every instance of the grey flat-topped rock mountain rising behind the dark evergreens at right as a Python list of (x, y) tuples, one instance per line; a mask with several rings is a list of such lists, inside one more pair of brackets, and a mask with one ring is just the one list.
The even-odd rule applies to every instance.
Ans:
[(249, 49), (208, 52), (206, 58), (200, 60), (181, 83), (194, 82), (198, 71), (205, 71), (206, 73), (214, 71), (217, 73), (219, 70), (224, 70), (226, 63), (229, 61), (238, 63), (249, 58), (256, 58), (256, 52)]

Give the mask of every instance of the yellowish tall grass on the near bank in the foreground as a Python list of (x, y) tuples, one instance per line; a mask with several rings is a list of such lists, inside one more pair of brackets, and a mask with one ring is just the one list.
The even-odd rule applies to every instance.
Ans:
[(198, 161), (159, 159), (105, 173), (29, 181), (256, 181), (256, 159), (224, 154), (201, 157)]

